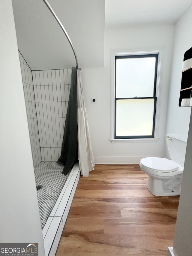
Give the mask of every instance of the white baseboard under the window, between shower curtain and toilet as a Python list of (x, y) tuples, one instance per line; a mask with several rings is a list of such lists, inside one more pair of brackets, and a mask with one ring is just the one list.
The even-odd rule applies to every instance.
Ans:
[(139, 164), (145, 156), (125, 157), (125, 156), (110, 156), (110, 157), (94, 157), (95, 164)]

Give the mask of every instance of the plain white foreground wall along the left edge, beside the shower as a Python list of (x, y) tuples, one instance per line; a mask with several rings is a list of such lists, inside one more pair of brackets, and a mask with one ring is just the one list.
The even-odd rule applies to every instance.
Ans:
[(11, 0), (0, 1), (0, 242), (38, 243), (44, 254)]

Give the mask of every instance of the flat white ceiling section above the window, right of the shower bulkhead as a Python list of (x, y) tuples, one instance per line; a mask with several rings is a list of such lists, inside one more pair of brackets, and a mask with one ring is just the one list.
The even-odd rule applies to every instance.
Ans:
[(173, 24), (192, 0), (106, 0), (105, 26)]

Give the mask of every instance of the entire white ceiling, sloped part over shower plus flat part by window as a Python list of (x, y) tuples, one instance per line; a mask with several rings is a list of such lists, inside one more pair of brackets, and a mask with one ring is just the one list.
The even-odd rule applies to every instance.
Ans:
[[(80, 68), (104, 66), (105, 28), (174, 24), (192, 0), (48, 0)], [(18, 48), (32, 70), (71, 68), (75, 57), (42, 0), (12, 0)]]

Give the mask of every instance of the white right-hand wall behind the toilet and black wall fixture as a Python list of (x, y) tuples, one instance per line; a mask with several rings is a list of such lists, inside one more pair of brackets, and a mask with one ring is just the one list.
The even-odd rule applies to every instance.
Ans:
[[(192, 47), (192, 6), (175, 24), (166, 133), (188, 134), (191, 107), (179, 107), (184, 53)], [(167, 143), (164, 156), (169, 157)]]

